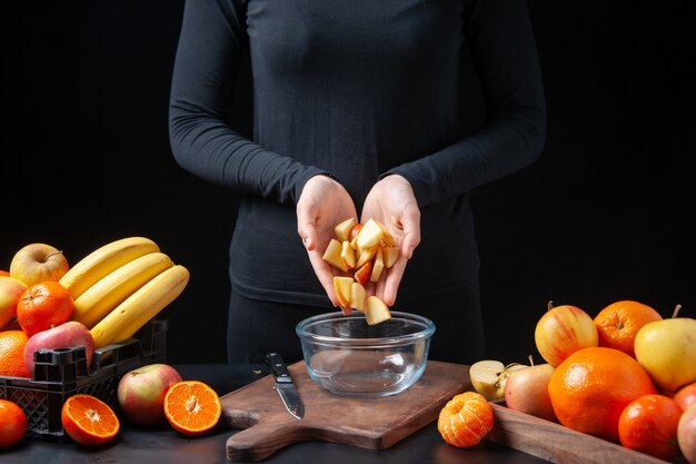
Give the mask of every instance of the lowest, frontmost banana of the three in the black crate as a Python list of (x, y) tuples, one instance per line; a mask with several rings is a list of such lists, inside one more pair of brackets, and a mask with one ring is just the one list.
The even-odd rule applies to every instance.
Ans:
[(183, 292), (189, 272), (175, 265), (153, 277), (90, 329), (95, 349), (132, 337)]

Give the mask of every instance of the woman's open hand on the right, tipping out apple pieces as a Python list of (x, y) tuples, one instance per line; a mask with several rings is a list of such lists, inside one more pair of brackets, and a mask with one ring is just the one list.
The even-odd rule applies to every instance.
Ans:
[(414, 190), (404, 177), (387, 176), (372, 187), (365, 199), (361, 223), (379, 220), (400, 248), (399, 258), (389, 269), (384, 269), (379, 282), (368, 288), (387, 306), (394, 305), (406, 264), (420, 243), (420, 209)]

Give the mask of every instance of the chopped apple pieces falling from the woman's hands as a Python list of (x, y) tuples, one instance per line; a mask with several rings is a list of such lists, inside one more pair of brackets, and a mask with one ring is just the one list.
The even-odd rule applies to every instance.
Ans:
[(369, 325), (391, 317), (388, 306), (377, 296), (367, 296), (365, 286), (377, 283), (385, 269), (399, 258), (399, 247), (387, 228), (375, 219), (365, 224), (349, 218), (334, 228), (335, 237), (324, 253), (324, 260), (352, 276), (334, 277), (334, 290), (342, 307), (365, 313)]

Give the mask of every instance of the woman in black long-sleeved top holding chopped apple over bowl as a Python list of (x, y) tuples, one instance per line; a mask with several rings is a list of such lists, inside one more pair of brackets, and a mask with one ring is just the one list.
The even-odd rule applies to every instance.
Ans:
[(533, 162), (545, 129), (525, 1), (187, 1), (173, 155), (242, 195), (228, 359), (301, 357), (297, 322), (338, 306), (321, 256), (348, 217), (396, 237), (399, 260), (368, 292), (435, 322), (430, 357), (483, 356), (469, 195)]

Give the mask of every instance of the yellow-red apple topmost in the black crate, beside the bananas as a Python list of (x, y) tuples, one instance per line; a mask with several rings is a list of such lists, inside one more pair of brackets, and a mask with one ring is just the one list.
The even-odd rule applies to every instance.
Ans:
[(61, 250), (46, 244), (30, 244), (12, 257), (10, 276), (32, 286), (44, 280), (58, 282), (68, 268)]

